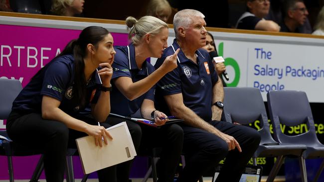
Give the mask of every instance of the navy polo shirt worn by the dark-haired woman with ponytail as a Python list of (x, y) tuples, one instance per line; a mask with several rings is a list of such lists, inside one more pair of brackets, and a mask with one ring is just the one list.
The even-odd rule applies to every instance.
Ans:
[[(12, 103), (12, 110), (28, 114), (41, 113), (43, 95), (51, 96), (61, 101), (59, 108), (69, 115), (78, 114), (84, 106), (80, 100), (73, 97), (74, 57), (63, 55), (48, 63), (39, 74), (33, 78), (19, 93)], [(95, 71), (86, 89), (86, 103), (96, 103), (102, 85)]]

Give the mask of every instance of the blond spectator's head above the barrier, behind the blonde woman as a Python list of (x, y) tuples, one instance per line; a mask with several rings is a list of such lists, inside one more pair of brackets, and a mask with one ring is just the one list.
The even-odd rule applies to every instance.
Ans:
[(155, 16), (166, 22), (171, 15), (171, 6), (167, 0), (151, 0), (148, 4), (147, 15)]

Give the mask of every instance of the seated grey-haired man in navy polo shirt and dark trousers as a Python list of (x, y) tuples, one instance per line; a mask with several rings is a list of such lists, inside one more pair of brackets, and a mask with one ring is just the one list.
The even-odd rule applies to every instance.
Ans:
[(159, 68), (168, 55), (177, 55), (177, 68), (157, 84), (155, 99), (163, 112), (183, 118), (183, 153), (186, 165), (178, 182), (197, 182), (202, 173), (224, 159), (217, 182), (239, 182), (244, 167), (260, 143), (249, 127), (220, 121), (223, 85), (207, 51), (204, 15), (193, 9), (178, 11), (173, 18), (175, 39), (157, 60)]

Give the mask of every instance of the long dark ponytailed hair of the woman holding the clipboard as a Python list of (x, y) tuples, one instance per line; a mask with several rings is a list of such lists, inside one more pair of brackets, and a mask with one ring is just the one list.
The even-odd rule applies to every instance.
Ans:
[[(110, 32), (100, 26), (89, 26), (82, 30), (78, 39), (71, 40), (63, 49), (63, 51), (55, 58), (73, 54), (74, 56), (74, 85), (73, 85), (73, 97), (80, 100), (80, 106), (85, 104), (85, 92), (86, 92), (86, 78), (84, 75), (84, 58), (87, 53), (87, 45), (92, 44), (95, 48), (98, 47), (98, 43), (104, 39)], [(55, 58), (53, 60), (55, 60)], [(50, 61), (45, 67), (49, 66), (52, 62)], [(44, 68), (45, 68), (44, 67)], [(37, 77), (41, 71), (40, 69), (32, 79)]]

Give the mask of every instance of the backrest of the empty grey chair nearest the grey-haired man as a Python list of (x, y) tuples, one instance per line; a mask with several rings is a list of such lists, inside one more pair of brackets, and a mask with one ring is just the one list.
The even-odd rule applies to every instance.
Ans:
[(259, 89), (224, 88), (223, 118), (227, 122), (250, 124), (260, 121), (260, 144), (277, 143), (270, 134), (267, 112)]

